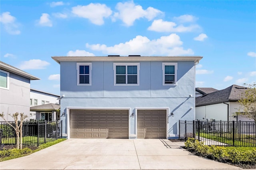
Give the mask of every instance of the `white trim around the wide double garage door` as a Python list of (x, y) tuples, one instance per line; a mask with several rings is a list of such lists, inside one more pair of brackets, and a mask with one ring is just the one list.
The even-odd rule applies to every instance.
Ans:
[(80, 110), (128, 110), (128, 138), (130, 137), (130, 113), (131, 108), (130, 107), (66, 107), (66, 117), (67, 117), (67, 133), (68, 133), (68, 139), (70, 139), (70, 110), (74, 109), (80, 109)]

